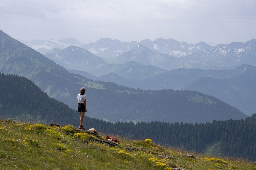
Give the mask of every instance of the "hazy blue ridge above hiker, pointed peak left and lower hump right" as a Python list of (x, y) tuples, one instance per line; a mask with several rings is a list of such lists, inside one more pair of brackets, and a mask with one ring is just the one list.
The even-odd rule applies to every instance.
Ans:
[(109, 64), (101, 57), (75, 46), (70, 46), (63, 50), (54, 49), (47, 53), (46, 56), (68, 70), (85, 71), (97, 77), (108, 73), (117, 73), (125, 79), (140, 80), (166, 71), (154, 66), (144, 66), (133, 61), (124, 64)]

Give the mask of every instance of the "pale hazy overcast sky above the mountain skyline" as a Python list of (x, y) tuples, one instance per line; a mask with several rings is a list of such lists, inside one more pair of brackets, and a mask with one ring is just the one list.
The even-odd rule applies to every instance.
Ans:
[(256, 38), (255, 0), (1, 0), (0, 30), (15, 39), (173, 38), (229, 44)]

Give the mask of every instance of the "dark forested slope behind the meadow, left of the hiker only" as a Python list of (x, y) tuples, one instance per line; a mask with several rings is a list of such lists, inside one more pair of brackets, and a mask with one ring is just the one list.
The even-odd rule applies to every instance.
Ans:
[[(25, 77), (0, 74), (0, 116), (43, 123), (77, 124), (78, 114)], [(77, 123), (75, 123), (77, 119)]]

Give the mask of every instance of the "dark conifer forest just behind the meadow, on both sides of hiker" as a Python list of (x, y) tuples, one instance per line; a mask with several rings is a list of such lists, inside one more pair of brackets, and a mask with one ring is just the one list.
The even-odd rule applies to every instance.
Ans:
[[(32, 81), (3, 73), (0, 74), (0, 117), (16, 121), (57, 123), (63, 126), (78, 126), (79, 123), (77, 111), (50, 98)], [(244, 157), (252, 161), (256, 157), (256, 114), (245, 119), (194, 124), (164, 121), (111, 123), (86, 116), (84, 125), (87, 129), (95, 128), (109, 135), (134, 139), (150, 138), (161, 145), (196, 152)]]

